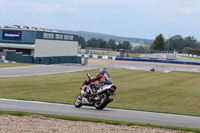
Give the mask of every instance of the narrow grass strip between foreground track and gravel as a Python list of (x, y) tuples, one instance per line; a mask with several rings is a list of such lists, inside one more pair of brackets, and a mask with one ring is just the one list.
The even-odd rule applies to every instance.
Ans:
[(172, 130), (181, 130), (181, 131), (200, 133), (200, 129), (194, 129), (194, 128), (169, 127), (169, 126), (159, 126), (159, 125), (151, 125), (151, 124), (141, 124), (141, 123), (133, 123), (133, 122), (84, 118), (84, 117), (38, 114), (38, 113), (27, 113), (27, 112), (13, 112), (13, 111), (0, 111), (0, 114), (8, 114), (8, 115), (15, 115), (15, 116), (41, 115), (44, 117), (51, 117), (51, 118), (61, 119), (61, 120), (96, 122), (96, 123), (105, 123), (105, 124), (122, 125), (122, 126), (145, 126), (145, 127), (163, 128), (163, 129), (172, 129)]

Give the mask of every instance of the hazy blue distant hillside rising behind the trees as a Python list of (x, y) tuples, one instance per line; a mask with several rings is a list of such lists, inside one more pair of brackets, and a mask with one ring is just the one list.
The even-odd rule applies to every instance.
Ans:
[(151, 39), (119, 37), (119, 36), (114, 36), (114, 35), (107, 35), (107, 34), (94, 33), (94, 32), (86, 32), (86, 31), (71, 31), (71, 30), (57, 30), (57, 31), (64, 32), (64, 33), (77, 34), (79, 36), (84, 37), (85, 40), (89, 40), (91, 38), (96, 38), (96, 39), (102, 38), (106, 41), (113, 39), (116, 42), (129, 41), (131, 43), (143, 43), (143, 44), (151, 44), (153, 42), (153, 40), (151, 40)]

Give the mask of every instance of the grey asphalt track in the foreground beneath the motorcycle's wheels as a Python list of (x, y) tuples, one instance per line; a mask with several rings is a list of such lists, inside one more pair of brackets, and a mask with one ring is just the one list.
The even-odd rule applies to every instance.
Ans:
[(173, 127), (200, 128), (200, 117), (110, 108), (96, 110), (94, 107), (86, 106), (75, 108), (73, 105), (34, 101), (0, 99), (0, 110), (118, 120)]

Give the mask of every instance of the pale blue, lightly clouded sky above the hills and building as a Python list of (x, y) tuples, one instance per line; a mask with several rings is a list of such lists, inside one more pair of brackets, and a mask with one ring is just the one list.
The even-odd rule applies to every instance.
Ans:
[(0, 26), (200, 41), (200, 0), (0, 0)]

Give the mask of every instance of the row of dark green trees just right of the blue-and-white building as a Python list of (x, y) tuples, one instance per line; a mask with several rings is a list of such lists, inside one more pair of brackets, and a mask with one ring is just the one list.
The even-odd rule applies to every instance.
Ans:
[(112, 50), (119, 50), (119, 49), (130, 49), (131, 43), (129, 41), (123, 41), (123, 42), (116, 42), (113, 39), (110, 39), (109, 41), (105, 41), (101, 38), (91, 38), (89, 40), (85, 40), (84, 37), (79, 36), (78, 43), (81, 45), (81, 48), (84, 49), (86, 47), (95, 47), (95, 48), (109, 48)]

